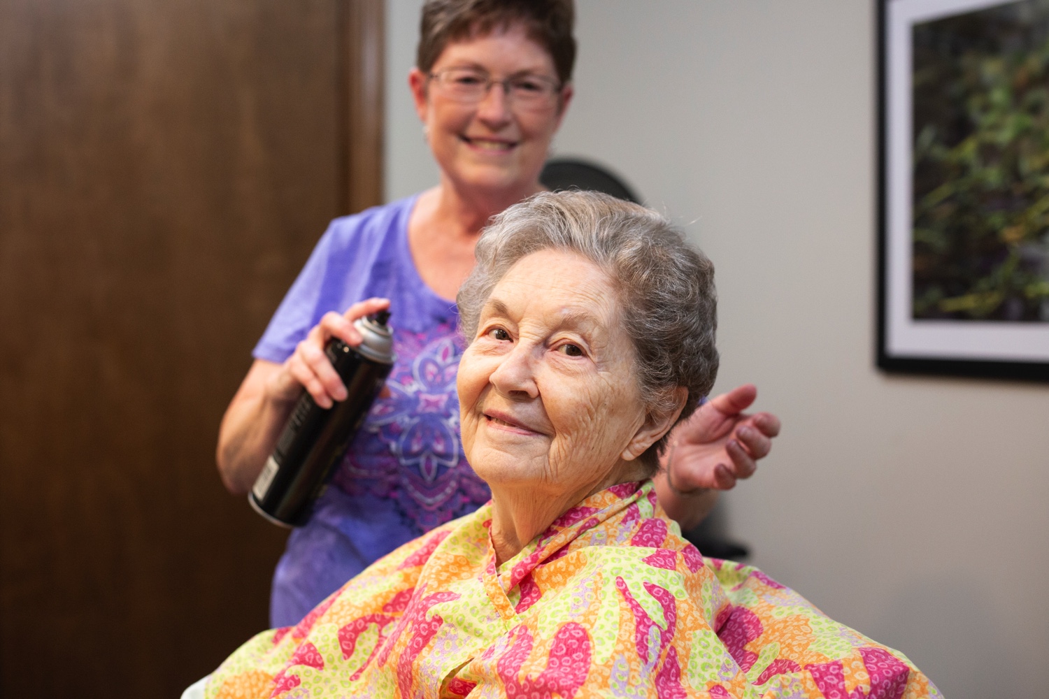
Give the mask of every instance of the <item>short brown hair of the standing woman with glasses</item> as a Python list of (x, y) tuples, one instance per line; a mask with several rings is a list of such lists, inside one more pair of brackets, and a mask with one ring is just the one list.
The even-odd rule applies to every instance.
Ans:
[(561, 84), (572, 80), (576, 40), (573, 0), (427, 0), (420, 23), (415, 65), (428, 73), (449, 42), (524, 25), (529, 39), (547, 49)]

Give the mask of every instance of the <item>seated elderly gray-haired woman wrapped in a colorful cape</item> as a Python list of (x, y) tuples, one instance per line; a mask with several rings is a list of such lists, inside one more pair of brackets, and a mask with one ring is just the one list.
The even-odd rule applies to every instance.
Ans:
[(718, 370), (713, 267), (659, 215), (539, 194), (458, 296), (463, 445), (492, 500), (259, 634), (208, 697), (940, 696), (901, 654), (657, 504)]

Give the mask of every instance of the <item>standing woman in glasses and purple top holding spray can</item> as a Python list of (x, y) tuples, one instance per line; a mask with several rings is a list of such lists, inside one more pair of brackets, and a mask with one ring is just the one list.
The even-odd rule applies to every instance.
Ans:
[[(219, 431), (222, 481), (251, 488), (303, 387), (345, 397), (323, 354), (356, 345), (352, 321), (389, 307), (397, 363), (306, 526), (274, 575), (271, 622), (297, 622), (371, 562), (490, 498), (463, 456), (454, 301), (489, 218), (539, 192), (551, 139), (572, 101), (572, 0), (429, 0), (415, 108), (441, 182), (331, 222), (255, 347)], [(747, 478), (778, 420), (743, 415), (752, 387), (718, 396), (671, 435), (660, 502), (684, 527), (716, 489)], [(669, 461), (669, 462), (668, 462)], [(669, 476), (669, 478), (667, 477)]]

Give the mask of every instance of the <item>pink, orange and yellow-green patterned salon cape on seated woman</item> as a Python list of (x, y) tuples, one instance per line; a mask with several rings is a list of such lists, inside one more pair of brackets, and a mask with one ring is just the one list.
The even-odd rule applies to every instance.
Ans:
[(750, 566), (704, 559), (651, 481), (585, 499), (501, 566), (491, 504), (405, 544), (206, 696), (941, 697), (902, 654)]

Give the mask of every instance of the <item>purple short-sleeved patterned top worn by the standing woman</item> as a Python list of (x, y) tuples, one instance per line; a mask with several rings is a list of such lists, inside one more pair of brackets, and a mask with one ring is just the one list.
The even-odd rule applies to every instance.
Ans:
[(274, 574), (275, 627), (298, 622), (373, 561), (491, 497), (459, 441), (458, 313), (420, 278), (408, 247), (415, 197), (331, 222), (255, 347), (281, 363), (329, 310), (390, 299), (397, 361), (314, 516)]

